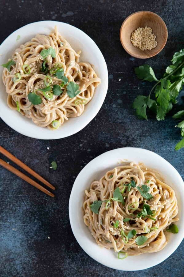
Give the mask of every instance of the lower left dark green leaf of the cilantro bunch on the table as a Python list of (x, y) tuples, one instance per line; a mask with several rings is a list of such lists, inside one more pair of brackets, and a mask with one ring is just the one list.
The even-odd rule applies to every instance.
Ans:
[(133, 103), (133, 108), (136, 110), (136, 115), (139, 119), (146, 119), (146, 109), (149, 107), (153, 112), (157, 113), (157, 103), (151, 100), (149, 96), (138, 95)]

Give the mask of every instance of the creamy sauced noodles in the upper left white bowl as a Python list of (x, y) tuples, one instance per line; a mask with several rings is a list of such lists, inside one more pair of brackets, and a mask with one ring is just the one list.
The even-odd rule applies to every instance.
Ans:
[[(48, 55), (43, 59), (40, 53), (49, 47), (55, 50), (56, 56), (52, 58)], [(21, 114), (32, 119), (35, 124), (41, 127), (47, 126), (49, 129), (54, 129), (52, 124), (54, 120), (58, 120), (61, 125), (69, 117), (80, 116), (84, 112), (84, 106), (92, 99), (95, 88), (101, 82), (91, 64), (79, 62), (80, 52), (74, 51), (58, 33), (57, 27), (50, 35), (36, 35), (31, 41), (20, 45), (12, 56), (15, 64), (11, 66), (10, 72), (4, 68), (2, 75), (8, 94), (8, 106), (13, 110), (20, 109)], [(58, 67), (59, 64), (64, 69), (68, 81), (78, 84), (80, 93), (70, 98), (65, 85), (60, 96), (53, 95), (52, 99), (47, 99), (44, 93), (38, 90), (45, 88), (45, 74), (41, 71), (43, 60), (46, 61), (48, 70)], [(17, 73), (20, 74), (21, 79), (14, 82)], [(61, 83), (61, 79), (52, 73), (49, 76), (52, 88), (53, 85)], [(29, 92), (39, 95), (42, 103), (33, 105), (28, 99)]]

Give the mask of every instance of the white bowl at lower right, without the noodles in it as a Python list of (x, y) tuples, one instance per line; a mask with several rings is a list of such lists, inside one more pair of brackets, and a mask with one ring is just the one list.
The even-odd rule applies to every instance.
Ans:
[[(94, 180), (99, 180), (108, 170), (118, 166), (118, 161), (144, 162), (149, 168), (161, 173), (165, 182), (170, 185), (178, 199), (178, 234), (168, 233), (168, 243), (164, 249), (156, 253), (139, 256), (128, 256), (124, 260), (117, 258), (113, 250), (102, 248), (96, 244), (88, 227), (83, 222), (82, 205), (84, 190), (89, 189)], [(90, 161), (77, 176), (69, 200), (69, 218), (73, 234), (82, 249), (97, 262), (118, 270), (135, 271), (153, 267), (168, 258), (179, 246), (184, 237), (184, 183), (177, 170), (159, 155), (141, 148), (119, 148), (108, 151)], [(146, 262), (145, 262), (146, 261)]]

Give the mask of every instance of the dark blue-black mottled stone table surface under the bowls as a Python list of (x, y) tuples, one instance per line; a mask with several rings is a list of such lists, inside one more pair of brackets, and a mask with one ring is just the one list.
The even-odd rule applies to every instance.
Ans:
[[(181, 139), (172, 119), (175, 111), (165, 121), (154, 118), (142, 121), (131, 108), (135, 96), (147, 95), (151, 88), (151, 84), (135, 77), (134, 67), (146, 62), (163, 73), (174, 51), (184, 48), (184, 1), (1, 0), (0, 4), (0, 43), (30, 22), (67, 22), (97, 43), (109, 73), (108, 93), (100, 112), (73, 136), (36, 140), (15, 132), (0, 120), (1, 145), (57, 186), (56, 197), (52, 199), (0, 168), (0, 276), (184, 276), (183, 242), (164, 262), (144, 271), (121, 272), (97, 263), (76, 242), (68, 212), (77, 174), (94, 157), (111, 149), (127, 146), (149, 149), (169, 161), (184, 177), (184, 149), (174, 150)], [(119, 41), (123, 20), (138, 10), (159, 14), (168, 28), (166, 47), (149, 60), (131, 58)], [(182, 105), (181, 97), (179, 104)], [(49, 168), (53, 160), (58, 163), (56, 171)]]

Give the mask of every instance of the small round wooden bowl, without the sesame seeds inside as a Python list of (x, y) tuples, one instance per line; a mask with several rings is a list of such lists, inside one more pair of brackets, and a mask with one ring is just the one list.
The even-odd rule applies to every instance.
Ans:
[[(157, 46), (152, 50), (140, 50), (131, 43), (131, 33), (139, 27), (151, 27), (156, 35)], [(157, 55), (167, 41), (167, 27), (159, 15), (151, 11), (138, 11), (129, 15), (120, 29), (120, 40), (128, 54), (135, 58), (147, 59)]]

